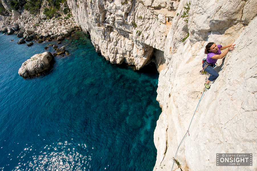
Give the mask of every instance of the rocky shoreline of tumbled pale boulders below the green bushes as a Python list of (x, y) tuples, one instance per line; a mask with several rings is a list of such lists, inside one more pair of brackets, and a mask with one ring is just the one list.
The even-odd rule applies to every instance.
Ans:
[[(14, 11), (8, 17), (0, 16), (0, 31), (7, 35), (15, 34), (21, 38), (18, 44), (37, 40), (41, 43), (45, 40), (63, 40), (73, 31), (81, 30), (73, 17), (56, 17), (47, 19), (44, 14), (30, 14), (28, 11)], [(25, 40), (25, 41), (24, 41)]]

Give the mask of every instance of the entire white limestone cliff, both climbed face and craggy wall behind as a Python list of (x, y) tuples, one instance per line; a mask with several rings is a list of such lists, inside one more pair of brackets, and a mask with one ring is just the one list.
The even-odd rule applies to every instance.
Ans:
[[(189, 2), (188, 17), (182, 18)], [(203, 93), (208, 77), (199, 71), (205, 45), (233, 41), (236, 49), (218, 60), (220, 76), (203, 95), (190, 136), (176, 156), (180, 168), (175, 163), (173, 170), (257, 169), (256, 157), (251, 167), (219, 167), (215, 161), (216, 153), (256, 156), (256, 4), (257, 0), (68, 0), (75, 21), (107, 60), (136, 69), (156, 62), (162, 113), (154, 132), (154, 170), (171, 170)]]

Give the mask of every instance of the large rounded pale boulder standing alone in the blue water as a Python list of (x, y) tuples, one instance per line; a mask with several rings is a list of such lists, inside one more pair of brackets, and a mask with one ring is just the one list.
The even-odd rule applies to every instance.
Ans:
[(50, 66), (53, 55), (50, 52), (35, 54), (30, 59), (23, 62), (19, 69), (19, 75), (23, 78), (38, 75)]

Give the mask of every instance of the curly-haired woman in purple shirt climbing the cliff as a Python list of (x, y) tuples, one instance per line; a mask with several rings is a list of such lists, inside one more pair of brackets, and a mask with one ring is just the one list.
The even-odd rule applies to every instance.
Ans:
[[(234, 50), (235, 45), (236, 44), (232, 43), (227, 46), (221, 46), (221, 45), (216, 45), (213, 42), (210, 42), (205, 46), (204, 53), (207, 54), (207, 60), (205, 62), (203, 62), (203, 68), (205, 68), (204, 70), (206, 72), (211, 74), (211, 76), (208, 78), (208, 80), (204, 84), (207, 89), (210, 88), (209, 83), (211, 81), (214, 81), (219, 76), (218, 72), (213, 69), (213, 66), (215, 65), (215, 63), (217, 62), (218, 59), (224, 58), (230, 50)], [(223, 53), (221, 53), (221, 50), (224, 50), (224, 49), (226, 49), (226, 50)]]

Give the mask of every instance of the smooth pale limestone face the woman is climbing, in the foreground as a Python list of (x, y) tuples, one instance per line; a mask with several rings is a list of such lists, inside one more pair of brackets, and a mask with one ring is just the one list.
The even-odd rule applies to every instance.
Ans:
[[(171, 170), (173, 158), (204, 91), (208, 76), (199, 75), (208, 42), (236, 48), (218, 60), (219, 77), (203, 94), (176, 156), (174, 170), (256, 170), (254, 166), (216, 166), (216, 153), (256, 156), (257, 31), (256, 1), (191, 1), (188, 23), (181, 18), (185, 3), (172, 20), (164, 48), (166, 69), (160, 71), (157, 100), (162, 113), (154, 132), (157, 158), (154, 170)], [(253, 7), (253, 8), (249, 8)], [(244, 12), (252, 11), (248, 24)], [(249, 12), (250, 13), (250, 12)], [(245, 23), (245, 24), (244, 24)], [(189, 38), (181, 42), (189, 32)], [(253, 158), (253, 163), (256, 163)]]

